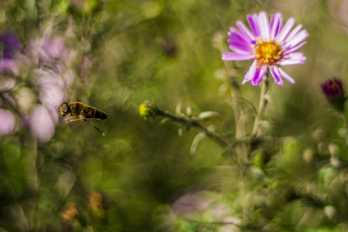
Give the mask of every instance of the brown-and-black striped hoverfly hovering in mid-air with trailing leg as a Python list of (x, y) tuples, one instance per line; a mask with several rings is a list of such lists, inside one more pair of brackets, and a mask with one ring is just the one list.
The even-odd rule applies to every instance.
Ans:
[[(88, 106), (82, 102), (64, 102), (59, 108), (62, 117), (69, 115), (75, 119), (68, 120), (68, 122), (83, 120), (92, 124), (100, 133), (105, 135), (98, 127), (96, 127), (93, 122), (86, 120), (86, 118), (101, 119), (105, 120), (108, 118), (108, 114), (104, 111), (98, 110), (95, 107)], [(66, 118), (65, 120), (67, 120)]]

